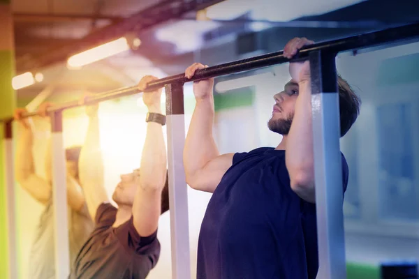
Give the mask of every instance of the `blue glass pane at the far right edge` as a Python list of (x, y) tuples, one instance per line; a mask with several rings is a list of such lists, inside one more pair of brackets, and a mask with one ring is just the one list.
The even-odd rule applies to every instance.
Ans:
[(411, 103), (383, 105), (377, 110), (379, 216), (419, 220)]

